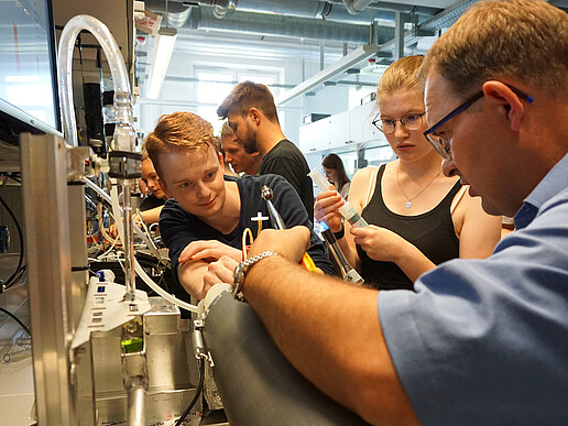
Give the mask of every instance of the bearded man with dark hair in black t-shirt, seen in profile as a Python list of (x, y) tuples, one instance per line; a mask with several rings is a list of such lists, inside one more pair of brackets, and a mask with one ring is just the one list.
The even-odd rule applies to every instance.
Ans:
[(260, 152), (259, 175), (269, 173), (284, 176), (296, 189), (314, 220), (314, 186), (307, 175), (309, 166), (298, 148), (288, 141), (280, 127), (274, 97), (265, 85), (242, 81), (217, 108), (227, 119), (238, 142), (249, 154)]

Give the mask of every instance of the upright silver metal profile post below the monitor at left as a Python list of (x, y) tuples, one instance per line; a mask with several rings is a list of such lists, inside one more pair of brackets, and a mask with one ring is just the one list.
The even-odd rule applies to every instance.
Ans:
[[(83, 404), (78, 408), (69, 350), (74, 292), (65, 142), (24, 133), (20, 148), (37, 422), (89, 424), (95, 414), (85, 415)], [(86, 423), (79, 422), (79, 412)]]

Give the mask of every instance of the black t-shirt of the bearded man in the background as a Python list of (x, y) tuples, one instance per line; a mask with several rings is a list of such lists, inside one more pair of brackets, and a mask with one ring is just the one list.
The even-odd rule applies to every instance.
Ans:
[(264, 155), (258, 173), (284, 176), (298, 193), (309, 220), (314, 220), (314, 185), (306, 159), (296, 145), (287, 139), (280, 141)]

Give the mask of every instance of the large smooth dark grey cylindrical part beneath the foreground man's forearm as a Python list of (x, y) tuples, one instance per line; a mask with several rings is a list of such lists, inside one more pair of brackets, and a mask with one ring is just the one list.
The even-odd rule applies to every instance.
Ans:
[(231, 426), (367, 424), (299, 374), (250, 305), (230, 293), (211, 305), (204, 340)]

